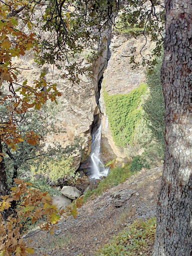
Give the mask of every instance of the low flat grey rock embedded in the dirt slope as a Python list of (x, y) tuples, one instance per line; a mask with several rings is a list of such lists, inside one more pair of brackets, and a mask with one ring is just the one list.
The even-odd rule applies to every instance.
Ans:
[(120, 207), (121, 205), (123, 205), (125, 203), (125, 201), (127, 201), (128, 199), (130, 199), (130, 197), (135, 193), (136, 191), (132, 190), (132, 189), (124, 189), (124, 190), (119, 190), (114, 192), (111, 197), (112, 200), (111, 202), (116, 206), (116, 207)]

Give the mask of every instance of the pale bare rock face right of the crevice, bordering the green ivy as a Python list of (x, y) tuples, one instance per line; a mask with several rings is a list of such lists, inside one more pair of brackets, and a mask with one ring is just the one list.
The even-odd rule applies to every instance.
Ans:
[(150, 57), (153, 47), (154, 43), (149, 38), (145, 42), (144, 36), (139, 36), (135, 39), (130, 35), (114, 35), (109, 45), (111, 56), (103, 73), (99, 103), (103, 114), (102, 134), (108, 138), (110, 146), (118, 157), (124, 157), (124, 155), (112, 140), (104, 106), (103, 88), (109, 95), (126, 94), (137, 88), (145, 80), (145, 68), (142, 65), (134, 69), (131, 68), (133, 64), (129, 63), (130, 58), (134, 55), (135, 60), (141, 62), (142, 56), (145, 58)]

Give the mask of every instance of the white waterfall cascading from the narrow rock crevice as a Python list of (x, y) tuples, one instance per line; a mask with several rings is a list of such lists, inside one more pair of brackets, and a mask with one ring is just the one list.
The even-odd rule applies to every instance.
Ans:
[(109, 168), (104, 167), (102, 160), (99, 157), (100, 154), (100, 138), (101, 138), (101, 124), (92, 133), (90, 164), (91, 174), (90, 179), (100, 179), (102, 176), (107, 176)]

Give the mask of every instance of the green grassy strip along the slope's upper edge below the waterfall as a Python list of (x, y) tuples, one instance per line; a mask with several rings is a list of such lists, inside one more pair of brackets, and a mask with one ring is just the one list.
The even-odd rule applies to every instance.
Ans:
[(89, 189), (83, 197), (83, 202), (85, 202), (89, 197), (96, 196), (104, 193), (107, 189), (117, 186), (118, 184), (124, 182), (132, 173), (129, 171), (128, 165), (125, 167), (116, 167), (110, 170), (108, 176), (102, 179), (98, 183), (98, 187), (92, 191)]

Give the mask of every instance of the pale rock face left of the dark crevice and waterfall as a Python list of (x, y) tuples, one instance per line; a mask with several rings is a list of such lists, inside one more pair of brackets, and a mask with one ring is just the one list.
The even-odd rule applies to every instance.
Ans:
[[(98, 91), (98, 80), (103, 73), (107, 64), (107, 42), (103, 42), (103, 54), (93, 65), (93, 71), (89, 72), (90, 64), (86, 57), (89, 54), (85, 49), (82, 54), (75, 56), (71, 62), (76, 61), (78, 66), (84, 70), (79, 74), (79, 83), (73, 83), (68, 79), (62, 78), (65, 68), (64, 64), (60, 63), (61, 69), (57, 69), (54, 65), (45, 64), (42, 67), (37, 66), (34, 62), (32, 52), (26, 52), (21, 58), (15, 58), (13, 61), (16, 66), (24, 69), (18, 74), (17, 82), (22, 82), (27, 79), (30, 84), (35, 79), (39, 79), (42, 71), (45, 71), (45, 79), (51, 84), (56, 83), (57, 89), (62, 93), (59, 104), (61, 109), (57, 111), (55, 125), (65, 129), (65, 132), (59, 135), (51, 134), (47, 140), (47, 146), (52, 141), (59, 141), (64, 145), (70, 143), (75, 136), (82, 138), (81, 148), (74, 154), (73, 166), (75, 169), (79, 167), (80, 161), (84, 160), (90, 154), (91, 146), (91, 124), (94, 119), (94, 114), (99, 112), (95, 96)], [(89, 50), (90, 51), (90, 50)]]

